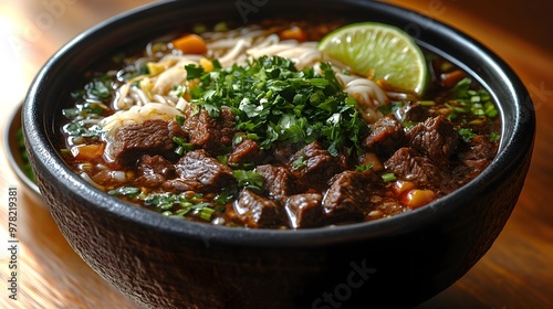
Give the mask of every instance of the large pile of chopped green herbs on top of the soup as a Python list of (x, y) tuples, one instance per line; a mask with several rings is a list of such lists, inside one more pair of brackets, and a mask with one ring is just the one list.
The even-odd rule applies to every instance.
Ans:
[(190, 89), (192, 104), (218, 117), (231, 108), (237, 130), (253, 134), (260, 147), (274, 141), (307, 145), (319, 140), (336, 156), (344, 147), (362, 149), (359, 137), (367, 130), (356, 102), (343, 92), (327, 63), (322, 74), (312, 67), (298, 71), (280, 56), (262, 56), (228, 68), (187, 65), (187, 78), (199, 82)]

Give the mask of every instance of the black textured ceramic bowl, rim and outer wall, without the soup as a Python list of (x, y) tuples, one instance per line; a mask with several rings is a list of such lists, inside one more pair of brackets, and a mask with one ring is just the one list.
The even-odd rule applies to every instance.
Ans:
[[(241, 9), (237, 6), (242, 4)], [(249, 8), (249, 9), (248, 9)], [(252, 231), (169, 220), (96, 190), (58, 153), (54, 117), (70, 81), (98, 58), (197, 21), (251, 22), (311, 12), (408, 30), (476, 77), (499, 103), (499, 154), (455, 193), (388, 220), (306, 231)], [(103, 278), (152, 308), (397, 308), (435, 296), (490, 248), (530, 164), (530, 96), (480, 43), (417, 13), (372, 1), (171, 1), (86, 31), (40, 71), (23, 110), (42, 195), (73, 248)]]

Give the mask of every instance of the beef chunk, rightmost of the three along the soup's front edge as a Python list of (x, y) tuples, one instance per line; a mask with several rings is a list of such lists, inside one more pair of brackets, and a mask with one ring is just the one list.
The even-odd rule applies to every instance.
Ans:
[(335, 175), (322, 202), (325, 216), (331, 223), (362, 221), (373, 190), (382, 182), (373, 172), (348, 170)]

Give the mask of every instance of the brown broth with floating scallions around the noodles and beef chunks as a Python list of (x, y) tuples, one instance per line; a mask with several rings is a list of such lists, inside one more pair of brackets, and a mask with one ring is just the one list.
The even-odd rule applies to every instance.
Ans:
[[(309, 22), (304, 21), (283, 22), (274, 20), (267, 20), (260, 23), (260, 28), (271, 29), (272, 32), (280, 33), (281, 35), (284, 31), (292, 30), (286, 33), (293, 38), (301, 38), (307, 41), (317, 41), (338, 25), (340, 23), (337, 22), (310, 25)], [(227, 26), (222, 26), (222, 24), (216, 25), (216, 28)], [(205, 26), (202, 25), (201, 28)], [(196, 30), (198, 29), (199, 26), (196, 28)], [(301, 36), (298, 36), (298, 29), (302, 30)], [(106, 62), (109, 63), (106, 65), (107, 68), (98, 70), (100, 72), (87, 73), (85, 79), (88, 81), (85, 83), (86, 86), (84, 86), (84, 90), (75, 92), (72, 98), (71, 108), (64, 109), (64, 115), (69, 116), (71, 119), (66, 119), (60, 128), (63, 136), (63, 141), (60, 145), (62, 157), (76, 173), (86, 174), (85, 178), (87, 178), (88, 181), (93, 181), (95, 185), (109, 192), (109, 194), (117, 195), (123, 200), (163, 213), (167, 216), (197, 222), (211, 222), (213, 224), (227, 226), (260, 228), (302, 228), (378, 220), (422, 206), (428, 202), (457, 190), (486, 169), (498, 150), (501, 124), (500, 118), (497, 116), (493, 98), (491, 98), (480, 85), (472, 81), (466, 72), (462, 72), (459, 67), (445, 58), (428, 51), (424, 51), (430, 72), (429, 86), (424, 97), (415, 98), (407, 95), (401, 98), (400, 96), (394, 97), (393, 95), (389, 106), (380, 111), (400, 121), (405, 132), (408, 132), (418, 124), (425, 122), (428, 118), (444, 116), (448, 119), (447, 121), (450, 121), (456, 135), (459, 136), (456, 137), (457, 141), (455, 143), (455, 149), (451, 151), (451, 154), (448, 156), (447, 162), (439, 162), (439, 164), (432, 162), (434, 166), (437, 166), (436, 169), (438, 173), (444, 174), (436, 178), (439, 181), (436, 181), (436, 179), (430, 182), (406, 179), (393, 174), (387, 167), (383, 167), (382, 169), (378, 168), (379, 166), (385, 166), (385, 162), (388, 162), (389, 158), (393, 156), (393, 153), (389, 153), (389, 150), (379, 152), (372, 148), (365, 149), (366, 152), (374, 154), (372, 158), (376, 158), (376, 161), (369, 161), (372, 162), (372, 168), (368, 168), (368, 171), (362, 171), (363, 164), (358, 162), (364, 153), (359, 153), (358, 150), (353, 151), (349, 145), (346, 147), (347, 149), (340, 149), (338, 156), (334, 157), (341, 160), (336, 159), (336, 162), (341, 162), (336, 163), (341, 167), (338, 169), (340, 172), (348, 170), (354, 173), (363, 174), (359, 175), (359, 181), (371, 180), (371, 184), (366, 185), (371, 189), (359, 187), (361, 191), (364, 192), (364, 190), (367, 190), (367, 194), (371, 195), (369, 199), (363, 203), (364, 205), (341, 205), (337, 206), (336, 209), (338, 210), (336, 210), (324, 207), (321, 205), (321, 202), (319, 202), (319, 204), (315, 202), (315, 205), (312, 206), (314, 211), (310, 212), (302, 210), (301, 214), (307, 216), (315, 213), (320, 215), (321, 219), (305, 219), (300, 226), (294, 226), (294, 224), (291, 223), (293, 219), (290, 217), (290, 209), (286, 209), (288, 204), (285, 201), (290, 199), (289, 195), (275, 198), (273, 194), (274, 192), (268, 192), (268, 190), (264, 189), (268, 184), (263, 184), (264, 187), (258, 185), (258, 188), (255, 188), (255, 185), (249, 183), (251, 192), (254, 193), (254, 198), (252, 198), (253, 201), (263, 202), (270, 200), (270, 202), (267, 203), (272, 203), (276, 206), (275, 211), (268, 211), (270, 214), (264, 214), (267, 209), (263, 209), (260, 214), (268, 217), (274, 216), (273, 222), (263, 223), (262, 220), (250, 222), (251, 217), (248, 219), (248, 214), (241, 214), (240, 211), (242, 209), (237, 205), (237, 200), (239, 200), (239, 195), (242, 194), (240, 192), (244, 190), (241, 185), (237, 185), (232, 182), (232, 184), (229, 185), (215, 188), (210, 192), (206, 192), (206, 190), (201, 190), (201, 192), (194, 192), (194, 190), (180, 191), (178, 190), (178, 185), (149, 185), (144, 181), (144, 178), (140, 178), (145, 174), (144, 169), (138, 169), (136, 164), (129, 166), (117, 160), (114, 161), (112, 160), (113, 158), (108, 159), (106, 156), (102, 154), (103, 150), (109, 147), (109, 145), (106, 145), (102, 134), (97, 134), (97, 128), (94, 127), (94, 124), (96, 124), (98, 119), (115, 113), (115, 110), (111, 108), (115, 99), (114, 88), (121, 87), (133, 76), (147, 73), (146, 71), (140, 71), (144, 70), (144, 67), (133, 66), (136, 64), (137, 58), (149, 55), (150, 60), (148, 62), (155, 62), (173, 52), (175, 51), (167, 40), (165, 42), (152, 42), (145, 46), (142, 52), (132, 56), (115, 55), (112, 57), (111, 62)], [(210, 57), (209, 52), (206, 55), (208, 58)], [(409, 109), (408, 106), (413, 106), (413, 108)], [(424, 115), (424, 118), (420, 119), (418, 117), (422, 116), (417, 115)], [(368, 136), (371, 130), (375, 130), (375, 128), (371, 127), (362, 138)], [(239, 139), (243, 139), (246, 136), (244, 132), (239, 130), (237, 130), (236, 134), (241, 136)], [(236, 147), (239, 142), (237, 142), (236, 138), (233, 138), (233, 140), (234, 142), (232, 146)], [(76, 145), (79, 145), (79, 147), (76, 147)], [(398, 145), (399, 147), (392, 152), (395, 152), (399, 148), (405, 148), (409, 143), (403, 141)], [(298, 152), (305, 145), (296, 142), (292, 146), (293, 151), (288, 152)], [(276, 146), (273, 147), (273, 150), (275, 147)], [(178, 148), (177, 143), (175, 148)], [(229, 149), (227, 149), (227, 151), (220, 150), (217, 156), (212, 157), (218, 158), (227, 156), (230, 151)], [(293, 169), (291, 168), (292, 163), (275, 160), (274, 157), (276, 156), (273, 152), (265, 151), (264, 153), (271, 153), (271, 156), (268, 157), (272, 157), (273, 159), (264, 160), (262, 162), (263, 164), (270, 163), (279, 168)], [(417, 152), (417, 156), (418, 154), (420, 153)], [(168, 157), (169, 158), (165, 159), (176, 164), (181, 156), (171, 154)], [(259, 162), (248, 167), (242, 164), (240, 168), (230, 166), (230, 170), (251, 171), (251, 169), (259, 166), (261, 166)], [(366, 173), (373, 175), (366, 175)], [(178, 179), (178, 177), (174, 178)], [(118, 181), (118, 179), (124, 179), (124, 181)], [(355, 179), (354, 177), (347, 180), (354, 181)], [(332, 187), (332, 184), (328, 183), (309, 185), (302, 181), (298, 181), (294, 185), (301, 189), (298, 189), (299, 191), (293, 191), (291, 195), (315, 194), (305, 196), (323, 196), (323, 199), (325, 199), (324, 196), (328, 192), (327, 190), (330, 190), (328, 188)], [(355, 189), (356, 187), (352, 188)], [(355, 192), (344, 194), (349, 194), (346, 198), (356, 196)], [(260, 196), (260, 200), (255, 200), (258, 196)], [(427, 201), (422, 204), (419, 202), (416, 203), (415, 206), (409, 206), (415, 199), (425, 199), (425, 196)], [(349, 210), (346, 210), (344, 211), (346, 213), (344, 215), (342, 214), (343, 212), (340, 211), (342, 206), (354, 207), (355, 212), (351, 213)], [(255, 210), (249, 210), (249, 212), (253, 211)], [(336, 214), (334, 215), (334, 213)]]

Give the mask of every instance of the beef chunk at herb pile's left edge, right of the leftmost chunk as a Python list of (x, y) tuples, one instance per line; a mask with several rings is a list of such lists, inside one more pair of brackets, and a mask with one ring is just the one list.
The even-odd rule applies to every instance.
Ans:
[(207, 110), (201, 109), (186, 118), (182, 129), (188, 132), (190, 143), (206, 149), (213, 156), (221, 154), (226, 147), (232, 145), (234, 115), (230, 109), (223, 108), (219, 117), (212, 118)]

